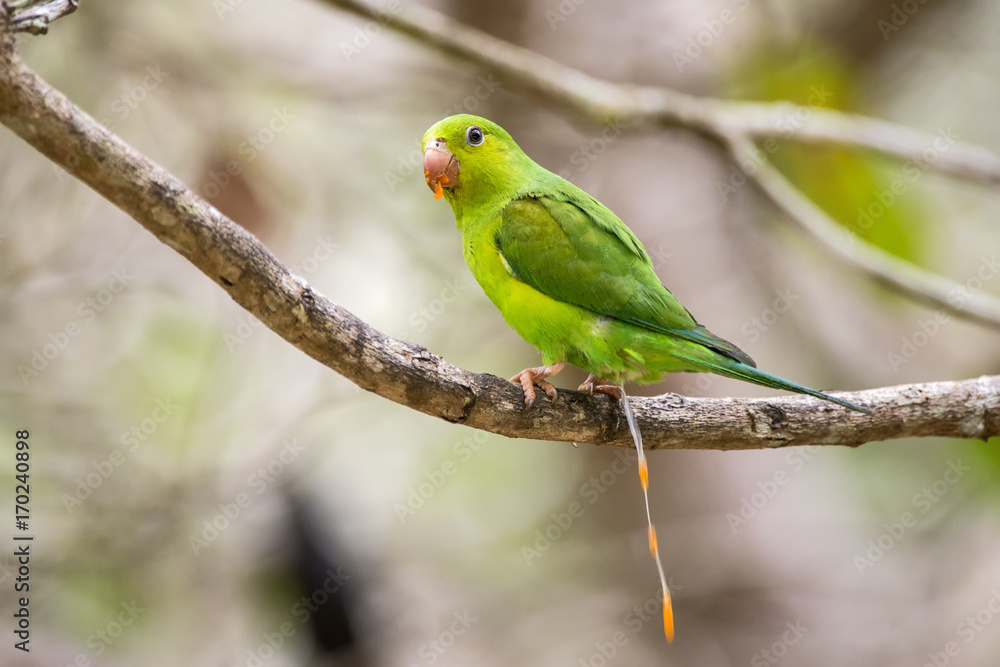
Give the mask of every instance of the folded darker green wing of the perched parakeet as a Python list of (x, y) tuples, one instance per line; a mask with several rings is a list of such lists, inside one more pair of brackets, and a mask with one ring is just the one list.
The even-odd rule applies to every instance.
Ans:
[(631, 230), (582, 190), (528, 193), (511, 201), (496, 244), (515, 278), (553, 299), (754, 365), (695, 321), (660, 283)]

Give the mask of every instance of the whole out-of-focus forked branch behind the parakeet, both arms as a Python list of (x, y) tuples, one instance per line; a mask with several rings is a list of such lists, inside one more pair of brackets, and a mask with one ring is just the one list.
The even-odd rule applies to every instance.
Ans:
[[(911, 162), (966, 180), (1000, 184), (1000, 157), (979, 146), (954, 141), (935, 148), (937, 135), (875, 118), (790, 102), (741, 102), (696, 97), (655, 86), (616, 84), (594, 78), (541, 54), (497, 39), (420, 5), (393, 13), (358, 0), (325, 0), (363, 18), (489, 69), (546, 102), (583, 114), (595, 122), (624, 120), (629, 126), (655, 124), (695, 132), (726, 150), (737, 164), (760, 169), (747, 176), (787, 217), (833, 255), (902, 294), (979, 324), (1000, 328), (1000, 299), (987, 294), (951, 299), (961, 286), (872, 246), (850, 242), (840, 226), (768, 166), (762, 151), (751, 153), (755, 139), (827, 143)], [(933, 159), (926, 152), (931, 151)]]

